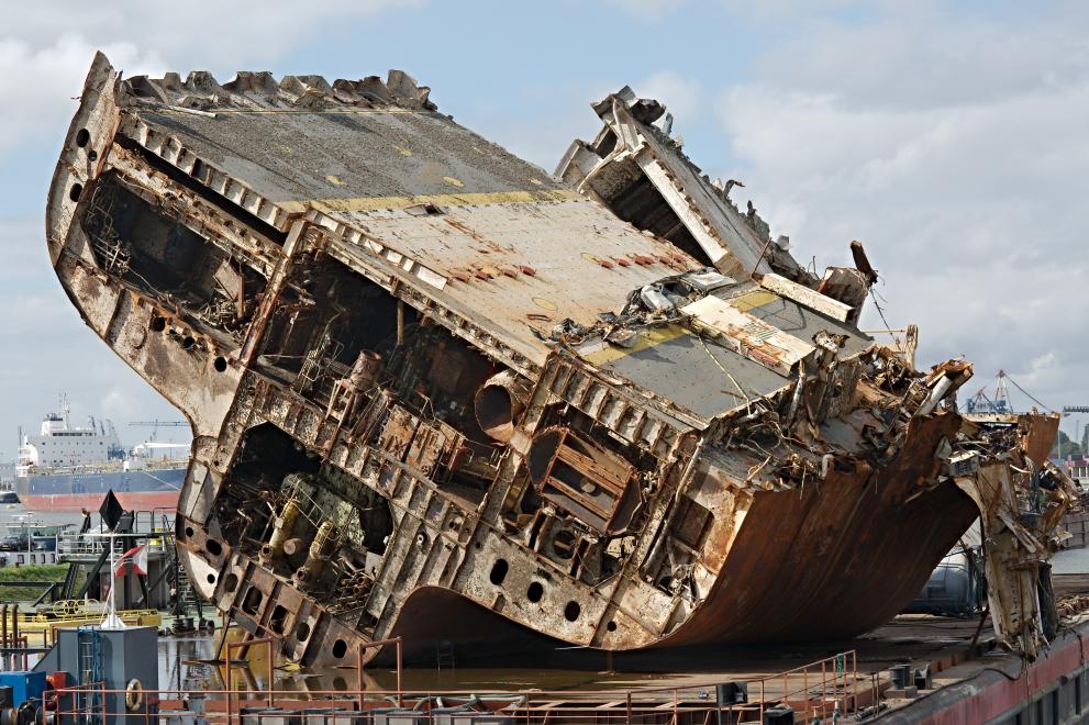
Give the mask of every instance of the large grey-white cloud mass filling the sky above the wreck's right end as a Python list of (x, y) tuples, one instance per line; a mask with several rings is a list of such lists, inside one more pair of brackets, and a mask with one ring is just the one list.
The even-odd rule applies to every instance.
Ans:
[(973, 390), (1002, 368), (1049, 405), (1089, 400), (1085, 34), (923, 14), (814, 24), (727, 89), (745, 191), (803, 260), (849, 264), (862, 239), (921, 360), (966, 354)]

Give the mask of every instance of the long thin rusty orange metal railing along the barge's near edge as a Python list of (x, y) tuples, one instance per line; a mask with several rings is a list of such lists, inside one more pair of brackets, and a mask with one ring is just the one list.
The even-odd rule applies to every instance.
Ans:
[[(854, 650), (811, 662), (803, 667), (764, 678), (743, 681), (752, 702), (720, 703), (715, 685), (721, 682), (686, 684), (671, 688), (613, 690), (276, 690), (271, 658), (268, 661), (266, 687), (262, 689), (253, 677), (236, 682), (231, 660), (236, 648), (253, 645), (271, 646), (265, 639), (232, 643), (224, 663), (226, 687), (222, 690), (111, 690), (102, 682), (92, 682), (57, 691), (74, 694), (70, 709), (58, 707), (62, 716), (75, 722), (104, 722), (124, 715), (132, 724), (177, 722), (244, 723), (260, 725), (268, 721), (284, 722), (286, 717), (320, 716), (326, 723), (370, 723), (381, 712), (397, 715), (397, 722), (449, 723), (452, 716), (469, 720), (475, 716), (500, 716), (511, 723), (760, 723), (764, 713), (775, 705), (789, 705), (801, 722), (845, 718), (871, 704), (876, 696), (869, 679), (857, 672)], [(362, 657), (360, 657), (362, 659)], [(360, 680), (362, 682), (362, 680)], [(79, 693), (85, 693), (80, 699)], [(93, 695), (93, 696), (91, 696)], [(127, 700), (126, 700), (127, 698)], [(78, 706), (79, 702), (85, 706)], [(114, 709), (111, 710), (111, 703)], [(120, 709), (116, 706), (120, 704)], [(395, 712), (391, 712), (395, 711)], [(102, 718), (102, 720), (98, 720)], [(74, 722), (74, 721), (64, 721)], [(311, 721), (313, 722), (313, 721)], [(463, 722), (466, 722), (463, 720)], [(491, 721), (495, 722), (495, 721)]]

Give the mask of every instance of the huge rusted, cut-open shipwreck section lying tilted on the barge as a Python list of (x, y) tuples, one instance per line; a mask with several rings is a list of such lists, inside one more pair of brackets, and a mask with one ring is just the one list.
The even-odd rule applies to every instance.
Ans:
[[(1020, 442), (951, 409), (970, 366), (858, 331), (860, 246), (801, 269), (629, 91), (562, 180), (427, 97), (92, 64), (49, 255), (192, 423), (177, 540), (221, 611), (313, 665), (402, 633), (433, 652), (444, 622), (611, 650), (847, 636), (981, 510), (1035, 592), (1051, 520), (1023, 515)], [(1035, 599), (992, 606), (1031, 650)]]

